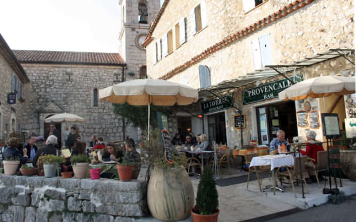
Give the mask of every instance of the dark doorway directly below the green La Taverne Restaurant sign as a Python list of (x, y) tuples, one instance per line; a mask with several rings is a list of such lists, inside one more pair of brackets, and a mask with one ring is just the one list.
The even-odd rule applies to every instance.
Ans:
[(209, 141), (226, 144), (225, 112), (208, 116)]

